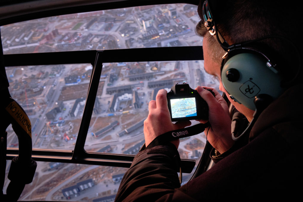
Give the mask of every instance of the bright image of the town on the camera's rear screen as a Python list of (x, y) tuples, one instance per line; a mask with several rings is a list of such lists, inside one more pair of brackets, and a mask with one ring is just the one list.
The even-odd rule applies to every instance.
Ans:
[(197, 116), (195, 98), (171, 99), (170, 102), (172, 118)]

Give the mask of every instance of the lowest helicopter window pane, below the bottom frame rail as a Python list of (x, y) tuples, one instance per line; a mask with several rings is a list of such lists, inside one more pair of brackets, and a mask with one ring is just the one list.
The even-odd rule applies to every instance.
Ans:
[[(7, 161), (8, 166), (10, 162)], [(18, 201), (115, 199), (115, 194), (126, 171), (127, 168), (123, 167), (38, 161), (34, 179), (31, 184), (25, 185)], [(5, 181), (6, 185), (7, 181)]]

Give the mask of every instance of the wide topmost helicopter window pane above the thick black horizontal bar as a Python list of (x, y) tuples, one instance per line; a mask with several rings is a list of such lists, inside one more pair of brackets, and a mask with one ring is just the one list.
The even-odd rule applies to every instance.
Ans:
[(198, 21), (186, 4), (59, 15), (2, 26), (2, 46), (4, 54), (195, 46)]

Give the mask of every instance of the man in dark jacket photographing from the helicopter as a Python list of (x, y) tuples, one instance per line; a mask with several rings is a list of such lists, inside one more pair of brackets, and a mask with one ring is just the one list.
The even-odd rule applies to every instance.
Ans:
[[(180, 187), (176, 172), (180, 163), (177, 151), (179, 141), (160, 143), (153, 147), (148, 145), (159, 135), (190, 123), (171, 123), (166, 91), (159, 91), (156, 100), (150, 101), (148, 105), (149, 114), (144, 122), (146, 149), (136, 155), (131, 168), (125, 173), (116, 196), (117, 201), (251, 200), (261, 197), (281, 200), (300, 195), (303, 179), (299, 162), (303, 140), (303, 110), (300, 106), (303, 99), (299, 98), (298, 92), (303, 87), (300, 79), (302, 53), (290, 42), (298, 41), (299, 32), (295, 30), (300, 25), (298, 6), (281, 1), (209, 2), (213, 6), (211, 14), (216, 24), (215, 35), (210, 35), (211, 30), (208, 32), (204, 26), (204, 1), (198, 6), (202, 21), (197, 25), (196, 32), (204, 37), (205, 71), (218, 77), (219, 89), (230, 95), (221, 76), (220, 57), (226, 51), (223, 51), (225, 43), (233, 45), (261, 38), (247, 44), (260, 48), (262, 54), (265, 51), (276, 56), (279, 65), (274, 68), (283, 76), (280, 82), (282, 87), (278, 85), (277, 88), (283, 89), (283, 92), (270, 104), (261, 101), (265, 109), (259, 107), (260, 103), (256, 101), (258, 112), (246, 104), (240, 104), (236, 98), (228, 97), (231, 104), (253, 125), (241, 137), (244, 141), (239, 143), (231, 136), (231, 118), (225, 100), (215, 89), (205, 87), (214, 91), (214, 97), (198, 86), (198, 93), (209, 106), (208, 121), (211, 127), (205, 133), (215, 148), (212, 158), (216, 164)], [(285, 18), (291, 16), (290, 13), (293, 18)], [(216, 38), (218, 34), (224, 40)], [(262, 38), (264, 36), (270, 37)], [(263, 74), (263, 71), (257, 72), (256, 77)], [(271, 88), (271, 83), (266, 83), (266, 80), (263, 83)], [(206, 121), (200, 120), (201, 123)]]

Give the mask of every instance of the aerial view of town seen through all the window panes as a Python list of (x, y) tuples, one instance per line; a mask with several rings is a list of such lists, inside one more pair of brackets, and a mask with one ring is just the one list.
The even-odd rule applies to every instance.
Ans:
[[(202, 38), (194, 31), (199, 21), (196, 10), (195, 5), (151, 5), (5, 25), (1, 27), (3, 52), (201, 46)], [(92, 65), (8, 67), (6, 74), (12, 98), (31, 120), (33, 148), (73, 150)], [(191, 88), (218, 86), (218, 81), (205, 73), (204, 61), (104, 63), (84, 149), (137, 154), (144, 143), (143, 121), (148, 115), (148, 102), (155, 100), (158, 90), (170, 91), (174, 84), (183, 82)], [(18, 148), (12, 127), (7, 131), (8, 147)], [(181, 158), (198, 162), (205, 143), (204, 133), (181, 139)], [(25, 186), (20, 200), (110, 201), (126, 170), (38, 162), (34, 181)], [(191, 175), (183, 174), (183, 182)]]

